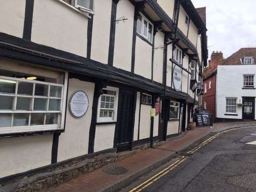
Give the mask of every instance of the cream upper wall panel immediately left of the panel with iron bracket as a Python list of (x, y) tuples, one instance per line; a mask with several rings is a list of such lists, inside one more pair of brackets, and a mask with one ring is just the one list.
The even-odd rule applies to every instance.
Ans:
[(91, 59), (108, 63), (108, 47), (112, 0), (96, 0), (93, 16)]

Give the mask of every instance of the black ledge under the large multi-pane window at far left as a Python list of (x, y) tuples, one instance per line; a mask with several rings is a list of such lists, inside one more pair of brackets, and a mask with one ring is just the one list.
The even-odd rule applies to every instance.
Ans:
[(30, 132), (15, 132), (15, 133), (0, 134), (0, 138), (22, 137), (22, 136), (32, 136), (32, 135), (44, 135), (44, 134), (63, 133), (63, 132), (65, 132), (64, 129), (30, 131)]

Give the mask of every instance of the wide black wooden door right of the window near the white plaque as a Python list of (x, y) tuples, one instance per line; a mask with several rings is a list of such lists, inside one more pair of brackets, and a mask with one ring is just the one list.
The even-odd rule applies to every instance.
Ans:
[(116, 132), (116, 148), (119, 152), (131, 148), (134, 126), (134, 92), (120, 91)]

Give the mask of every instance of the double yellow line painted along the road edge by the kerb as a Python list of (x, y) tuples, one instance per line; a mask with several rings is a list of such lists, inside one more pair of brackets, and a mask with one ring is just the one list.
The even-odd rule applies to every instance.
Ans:
[[(226, 131), (222, 131), (219, 132), (217, 134), (215, 134), (214, 136), (208, 138), (207, 140), (205, 140), (204, 142), (202, 142), (200, 145), (196, 146), (195, 148), (193, 148), (192, 150), (188, 151), (186, 154), (193, 154), (194, 152), (196, 152), (198, 149), (202, 148), (203, 146), (205, 146), (206, 144), (210, 143), (212, 140), (214, 140), (217, 136), (219, 136), (222, 133), (231, 131), (231, 130), (235, 130), (236, 128), (233, 129), (229, 129)], [(140, 192), (142, 191), (144, 188), (148, 187), (149, 185), (151, 185), (153, 182), (155, 182), (156, 180), (158, 180), (159, 178), (161, 178), (162, 176), (164, 176), (165, 174), (167, 174), (168, 172), (170, 172), (171, 170), (173, 170), (175, 167), (177, 167), (179, 164), (181, 164), (182, 162), (184, 162), (186, 160), (186, 156), (182, 156), (181, 159), (177, 160), (176, 162), (174, 162), (173, 164), (171, 164), (170, 166), (168, 166), (167, 168), (165, 168), (164, 170), (160, 171), (158, 174), (152, 176), (151, 178), (149, 178), (148, 180), (146, 180), (145, 182), (143, 182), (142, 184), (138, 185), (137, 187), (133, 188), (132, 190), (130, 190), (129, 192)]]

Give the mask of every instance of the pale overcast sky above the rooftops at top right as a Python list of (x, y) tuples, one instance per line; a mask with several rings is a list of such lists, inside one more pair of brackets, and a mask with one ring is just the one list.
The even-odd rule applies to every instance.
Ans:
[(256, 0), (192, 0), (206, 7), (209, 59), (212, 51), (229, 57), (242, 47), (256, 47)]

